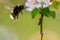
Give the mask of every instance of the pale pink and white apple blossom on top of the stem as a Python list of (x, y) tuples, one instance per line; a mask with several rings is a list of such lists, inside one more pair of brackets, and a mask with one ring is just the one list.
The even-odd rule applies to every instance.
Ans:
[[(42, 4), (43, 3), (43, 4)], [(28, 11), (32, 11), (34, 8), (41, 8), (43, 5), (43, 8), (48, 7), (49, 5), (51, 5), (51, 1), (50, 0), (27, 0), (27, 2), (25, 3)]]

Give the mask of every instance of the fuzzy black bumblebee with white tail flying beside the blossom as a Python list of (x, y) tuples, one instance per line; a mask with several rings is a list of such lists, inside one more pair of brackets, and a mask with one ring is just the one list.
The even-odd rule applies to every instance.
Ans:
[(22, 10), (24, 9), (24, 5), (17, 5), (14, 7), (13, 10), (11, 10), (10, 18), (15, 20), (18, 19), (18, 15)]

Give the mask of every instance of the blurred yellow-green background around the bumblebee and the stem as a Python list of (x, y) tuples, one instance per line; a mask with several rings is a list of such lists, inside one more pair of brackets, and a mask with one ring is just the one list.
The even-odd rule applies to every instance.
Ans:
[[(5, 0), (13, 5), (24, 4), (26, 0)], [(10, 10), (5, 8), (5, 4), (0, 1), (0, 25), (11, 27), (18, 35), (19, 40), (27, 40), (32, 34), (39, 31), (39, 15), (35, 19), (31, 18), (31, 13), (23, 10), (16, 22), (10, 19)], [(44, 17), (43, 30), (50, 30), (60, 38), (60, 9), (56, 10), (56, 18)]]

